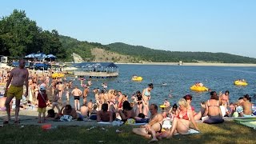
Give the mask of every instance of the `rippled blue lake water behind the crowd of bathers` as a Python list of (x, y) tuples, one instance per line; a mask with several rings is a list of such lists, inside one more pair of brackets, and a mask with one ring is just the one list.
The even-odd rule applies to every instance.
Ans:
[[(149, 83), (154, 84), (151, 92), (150, 103), (158, 105), (167, 98), (171, 105), (178, 102), (186, 94), (192, 94), (192, 105), (198, 111), (200, 102), (210, 98), (208, 92), (194, 92), (190, 86), (194, 82), (202, 82), (204, 86), (217, 92), (230, 91), (230, 102), (236, 102), (244, 94), (250, 94), (252, 102), (256, 94), (256, 67), (230, 67), (230, 66), (162, 66), (162, 65), (118, 65), (118, 78), (94, 79), (90, 86), (88, 99), (93, 98), (91, 91), (94, 88), (102, 89), (102, 82), (107, 82), (108, 90), (121, 90), (123, 94), (130, 96), (137, 90), (142, 92)], [(131, 77), (136, 74), (143, 78), (142, 82), (132, 82)], [(245, 79), (248, 86), (234, 86), (236, 79)], [(80, 82), (74, 81), (80, 85)], [(162, 83), (166, 83), (163, 86)], [(171, 90), (171, 92), (170, 92)], [(172, 98), (169, 97), (172, 95)], [(71, 98), (71, 101), (73, 98)], [(81, 100), (82, 103), (82, 100)], [(72, 103), (73, 104), (73, 103)]]

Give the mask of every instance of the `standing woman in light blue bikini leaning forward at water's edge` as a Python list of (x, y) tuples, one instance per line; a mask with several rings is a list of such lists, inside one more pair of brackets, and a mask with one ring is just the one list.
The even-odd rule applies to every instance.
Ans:
[(154, 88), (153, 83), (150, 83), (146, 89), (142, 92), (142, 104), (143, 104), (143, 114), (147, 117), (149, 113), (149, 102), (151, 97), (151, 90)]

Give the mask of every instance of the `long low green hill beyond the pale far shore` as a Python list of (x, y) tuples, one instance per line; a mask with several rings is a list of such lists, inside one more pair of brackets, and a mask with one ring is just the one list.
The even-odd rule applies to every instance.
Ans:
[(122, 42), (106, 45), (110, 51), (130, 55), (150, 62), (220, 62), (220, 63), (256, 63), (256, 58), (242, 57), (226, 53), (181, 52), (154, 50), (144, 46), (131, 46)]

